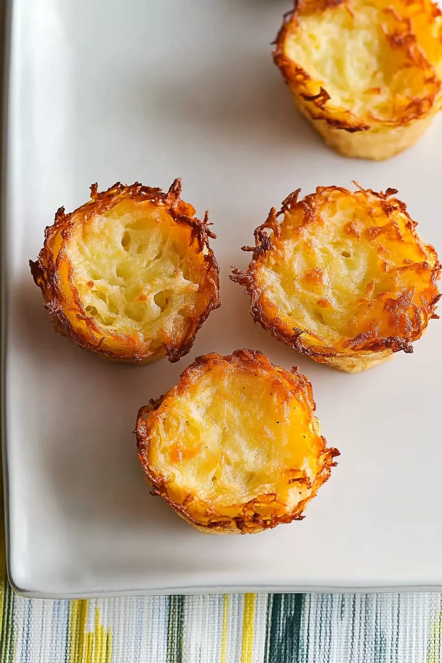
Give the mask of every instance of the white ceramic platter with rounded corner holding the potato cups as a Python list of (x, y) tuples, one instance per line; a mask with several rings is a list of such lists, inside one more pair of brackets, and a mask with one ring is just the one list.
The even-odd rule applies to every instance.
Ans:
[[(271, 206), (317, 185), (394, 187), (442, 251), (442, 125), (387, 162), (341, 158), (296, 113), (270, 42), (280, 0), (13, 0), (3, 215), (4, 469), (19, 593), (442, 587), (442, 322), (362, 375), (300, 357), (252, 324), (228, 280)], [(116, 180), (210, 211), (222, 306), (178, 364), (106, 363), (54, 333), (30, 277), (46, 225)], [(196, 355), (264, 351), (313, 383), (330, 481), (302, 522), (202, 536), (149, 495), (137, 409)]]

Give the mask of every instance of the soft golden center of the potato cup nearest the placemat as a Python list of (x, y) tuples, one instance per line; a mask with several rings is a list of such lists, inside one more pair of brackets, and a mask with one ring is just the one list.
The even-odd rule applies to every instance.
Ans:
[(290, 479), (317, 473), (317, 435), (305, 404), (259, 370), (212, 367), (174, 395), (170, 408), (164, 401), (158, 415), (150, 466), (174, 493), (195, 491), (218, 512), (268, 493), (296, 505), (305, 488)]

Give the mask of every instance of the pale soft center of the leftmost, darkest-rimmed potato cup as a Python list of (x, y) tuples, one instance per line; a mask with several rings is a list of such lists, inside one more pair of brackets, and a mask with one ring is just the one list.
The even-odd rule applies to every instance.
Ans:
[(121, 203), (80, 226), (68, 257), (83, 308), (112, 333), (164, 341), (198, 310), (196, 268), (203, 261), (186, 233), (150, 202)]

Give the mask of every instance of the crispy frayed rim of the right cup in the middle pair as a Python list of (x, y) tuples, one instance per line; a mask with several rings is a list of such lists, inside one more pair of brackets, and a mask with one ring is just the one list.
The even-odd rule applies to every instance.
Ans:
[[(425, 261), (423, 263), (415, 263), (417, 278), (420, 278), (421, 274), (426, 274), (428, 284), (434, 291), (431, 300), (428, 303), (422, 302), (422, 306), (416, 311), (415, 320), (419, 322), (415, 330), (410, 331), (406, 329), (405, 321), (408, 320), (408, 310), (410, 309), (410, 302), (408, 302), (406, 297), (398, 297), (397, 300), (394, 300), (394, 307), (392, 306), (391, 313), (396, 316), (398, 335), (378, 337), (376, 335), (376, 330), (364, 331), (354, 338), (346, 339), (340, 343), (332, 344), (327, 342), (327, 349), (323, 352), (315, 349), (315, 347), (317, 347), (315, 339), (321, 340), (315, 335), (315, 333), (297, 327), (292, 327), (289, 331), (287, 325), (284, 324), (280, 318), (276, 317), (273, 320), (268, 318), (265, 306), (263, 306), (260, 299), (260, 290), (258, 290), (258, 287), (256, 286), (258, 263), (260, 263), (260, 260), (265, 257), (267, 251), (272, 250), (274, 247), (272, 238), (269, 237), (266, 230), (270, 229), (270, 231), (274, 233), (274, 237), (277, 239), (280, 235), (280, 223), (278, 217), (296, 208), (303, 211), (304, 223), (314, 223), (318, 208), (317, 195), (321, 195), (323, 192), (327, 191), (340, 191), (345, 195), (352, 195), (348, 189), (342, 187), (317, 187), (316, 194), (305, 196), (300, 202), (298, 202), (300, 189), (297, 189), (287, 196), (282, 202), (280, 211), (277, 212), (276, 208), (272, 208), (266, 221), (255, 229), (255, 245), (253, 247), (242, 247), (243, 251), (252, 252), (252, 260), (250, 261), (247, 272), (243, 272), (241, 269), (233, 267), (233, 273), (229, 276), (233, 282), (245, 286), (245, 293), (250, 296), (250, 314), (252, 315), (254, 322), (259, 322), (259, 324), (265, 330), (270, 331), (278, 341), (290, 345), (300, 354), (307, 355), (319, 363), (325, 362), (332, 357), (348, 357), (355, 352), (382, 352), (388, 349), (392, 352), (403, 350), (406, 353), (412, 353), (412, 341), (416, 341), (421, 337), (431, 318), (439, 318), (439, 316), (435, 314), (435, 308), (437, 302), (442, 296), (442, 294), (439, 294), (436, 285), (436, 281), (441, 275), (441, 263), (439, 263), (434, 247), (429, 244), (425, 245), (423, 241), (421, 241), (421, 238), (415, 231), (417, 223), (410, 218), (410, 215), (408, 215), (406, 205), (397, 198), (391, 198), (391, 196), (394, 196), (394, 194), (397, 193), (396, 189), (388, 188), (385, 193), (376, 193), (370, 189), (362, 189), (356, 182), (355, 184), (358, 186), (359, 191), (365, 196), (375, 196), (387, 219), (396, 211), (400, 211), (400, 213), (404, 214), (407, 219), (407, 228), (412, 237), (414, 237), (419, 247), (425, 250), (427, 255), (431, 256), (435, 261), (435, 265), (432, 268)], [(318, 232), (320, 233), (320, 228)], [(420, 322), (421, 315), (425, 320), (425, 324), (421, 324)], [(401, 320), (404, 320), (403, 324), (401, 324)], [(403, 336), (399, 335), (401, 332)], [(333, 345), (333, 347), (330, 347), (331, 345)]]

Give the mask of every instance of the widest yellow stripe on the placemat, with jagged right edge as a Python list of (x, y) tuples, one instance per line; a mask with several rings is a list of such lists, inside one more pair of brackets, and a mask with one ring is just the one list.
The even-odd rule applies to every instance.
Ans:
[(68, 618), (69, 663), (110, 663), (112, 633), (100, 623), (100, 611), (95, 608), (93, 631), (86, 631), (87, 599), (70, 601)]

